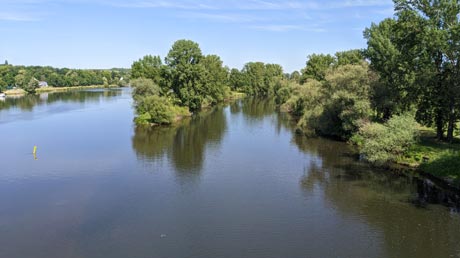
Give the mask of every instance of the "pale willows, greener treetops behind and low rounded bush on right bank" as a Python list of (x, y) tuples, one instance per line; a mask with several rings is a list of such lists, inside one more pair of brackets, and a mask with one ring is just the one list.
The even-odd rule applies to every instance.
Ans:
[[(414, 113), (378, 112), (382, 83), (364, 51), (311, 55), (300, 81), (291, 78), (275, 92), (281, 110), (297, 118), (298, 131), (351, 141), (374, 163), (396, 160), (415, 142)], [(299, 83), (300, 82), (300, 83)]]

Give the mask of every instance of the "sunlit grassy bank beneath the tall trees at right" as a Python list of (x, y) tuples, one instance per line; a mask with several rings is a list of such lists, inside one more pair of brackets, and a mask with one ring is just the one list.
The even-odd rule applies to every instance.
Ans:
[(453, 144), (437, 141), (432, 129), (423, 128), (420, 140), (398, 163), (418, 167), (426, 173), (460, 185), (460, 139)]

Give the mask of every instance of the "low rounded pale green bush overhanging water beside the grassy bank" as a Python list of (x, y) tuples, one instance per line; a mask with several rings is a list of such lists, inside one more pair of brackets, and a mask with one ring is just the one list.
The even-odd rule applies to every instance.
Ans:
[(351, 141), (369, 162), (382, 165), (396, 161), (416, 142), (419, 125), (412, 113), (393, 116), (385, 124), (365, 123)]

